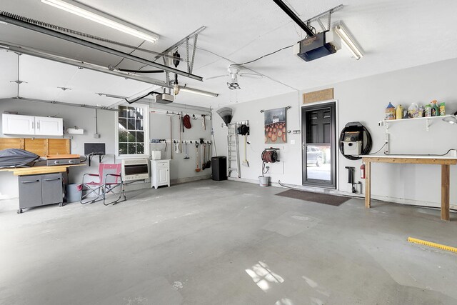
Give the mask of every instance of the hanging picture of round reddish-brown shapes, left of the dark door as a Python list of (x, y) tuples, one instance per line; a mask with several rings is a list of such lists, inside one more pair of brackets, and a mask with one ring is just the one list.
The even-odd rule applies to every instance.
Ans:
[(286, 107), (264, 112), (265, 144), (287, 143)]

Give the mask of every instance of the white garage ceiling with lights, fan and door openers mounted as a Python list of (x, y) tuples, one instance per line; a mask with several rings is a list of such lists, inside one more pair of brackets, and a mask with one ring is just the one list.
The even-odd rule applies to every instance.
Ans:
[[(304, 37), (303, 31), (281, 9), (266, 0), (164, 1), (164, 0), (81, 0), (83, 4), (156, 32), (158, 44), (146, 42), (142, 48), (163, 51), (201, 26), (207, 26), (198, 39), (194, 74), (211, 77), (226, 73), (227, 66), (256, 59)], [(236, 101), (251, 101), (274, 96), (295, 89), (333, 84), (433, 61), (455, 58), (457, 40), (453, 39), (453, 14), (457, 1), (379, 1), (379, 0), (288, 0), (306, 20), (338, 4), (344, 7), (332, 15), (332, 23), (342, 21), (363, 49), (365, 56), (356, 61), (347, 49), (316, 61), (305, 62), (292, 55), (291, 49), (280, 51), (246, 65), (263, 74), (262, 79), (239, 78), (241, 90), (231, 91), (227, 78), (200, 82), (184, 77), (180, 84), (214, 91), (218, 98), (181, 92), (176, 102), (197, 106), (223, 106)], [(84, 31), (125, 44), (139, 46), (140, 39), (94, 24), (79, 16), (42, 4), (40, 0), (3, 0), (0, 10), (39, 19), (69, 29)], [(316, 26), (318, 29), (318, 26)], [(16, 26), (0, 24), (0, 41), (19, 44), (60, 54), (100, 66), (119, 64), (117, 56), (94, 51)], [(124, 52), (132, 49), (114, 47)], [(186, 54), (184, 46), (179, 49)], [(132, 54), (153, 59), (151, 54), (134, 51)], [(95, 92), (134, 96), (156, 87), (139, 81), (126, 80), (88, 69), (77, 69), (32, 56), (22, 55), (19, 75), (19, 95), (31, 99), (49, 99), (78, 104), (108, 106), (116, 99), (98, 96)], [(0, 52), (0, 98), (16, 96), (17, 56)], [(139, 69), (142, 65), (124, 60), (119, 68)], [(151, 69), (146, 67), (146, 69)], [(181, 63), (179, 69), (186, 69)], [(153, 74), (164, 80), (163, 74)], [(62, 91), (58, 86), (69, 87)]]

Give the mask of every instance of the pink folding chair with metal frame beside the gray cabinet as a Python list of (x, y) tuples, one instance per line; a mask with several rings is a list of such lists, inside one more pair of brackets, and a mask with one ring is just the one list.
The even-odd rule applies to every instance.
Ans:
[[(99, 177), (98, 181), (87, 181), (86, 176)], [(96, 179), (97, 180), (97, 179)], [(116, 189), (119, 191), (116, 192)], [(92, 204), (96, 201), (103, 200), (103, 204), (117, 204), (118, 202), (125, 201), (126, 193), (124, 189), (124, 181), (121, 176), (121, 164), (99, 164), (99, 174), (84, 174), (83, 182), (80, 185), (81, 204)], [(106, 203), (106, 194), (112, 193), (115, 195), (116, 200)], [(121, 200), (124, 196), (124, 200)]]

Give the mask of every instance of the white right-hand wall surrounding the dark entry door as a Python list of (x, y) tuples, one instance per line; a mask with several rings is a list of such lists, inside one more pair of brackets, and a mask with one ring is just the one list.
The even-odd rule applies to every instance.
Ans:
[[(363, 60), (363, 59), (362, 59)], [(354, 64), (357, 64), (354, 61)], [(384, 109), (389, 101), (395, 106), (411, 103), (426, 104), (433, 99), (446, 101), (446, 113), (457, 110), (457, 59), (440, 61), (411, 69), (393, 71), (387, 74), (369, 76), (363, 79), (344, 81), (314, 91), (334, 88), (338, 103), (338, 130), (351, 121), (360, 121), (373, 137), (372, 152), (383, 145), (385, 130), (378, 126), (383, 119)], [(331, 72), (329, 72), (331, 73)], [(268, 99), (243, 104), (231, 104), (233, 121), (248, 119), (251, 136), (248, 141), (249, 168), (241, 166), (241, 179), (257, 181), (261, 175), (261, 151), (268, 147), (263, 144), (263, 114), (261, 109), (292, 106), (288, 110), (287, 129), (301, 129), (300, 106), (303, 92), (273, 96)], [(227, 128), (221, 128), (222, 120), (214, 115), (214, 131), (219, 155), (226, 155)], [(391, 154), (443, 154), (448, 149), (457, 149), (457, 126), (441, 120), (433, 121), (426, 131), (425, 121), (405, 121), (391, 124), (388, 129), (391, 139)], [(243, 140), (242, 137), (240, 140)], [(291, 144), (295, 140), (296, 144)], [(241, 141), (242, 144), (242, 141)], [(276, 147), (276, 146), (275, 146)], [(243, 152), (241, 145), (241, 156)], [(301, 134), (288, 134), (288, 144), (279, 152), (281, 163), (272, 164), (271, 181), (301, 185)], [(243, 158), (241, 158), (243, 159)], [(283, 166), (283, 174), (282, 172)], [(346, 183), (345, 166), (356, 167), (356, 180), (360, 176), (361, 160), (350, 161), (338, 152), (338, 190), (350, 192)], [(364, 180), (361, 180), (364, 184)], [(451, 166), (451, 186), (457, 183), (457, 170)], [(374, 198), (410, 204), (439, 206), (441, 194), (441, 171), (439, 166), (413, 164), (373, 164), (372, 194)], [(457, 191), (451, 187), (451, 204), (457, 204)]]

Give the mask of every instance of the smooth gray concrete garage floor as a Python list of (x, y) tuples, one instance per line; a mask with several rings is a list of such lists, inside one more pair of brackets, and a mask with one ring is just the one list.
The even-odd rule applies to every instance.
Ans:
[(116, 206), (0, 202), (0, 304), (456, 304), (457, 217), (341, 206), (234, 181)]

